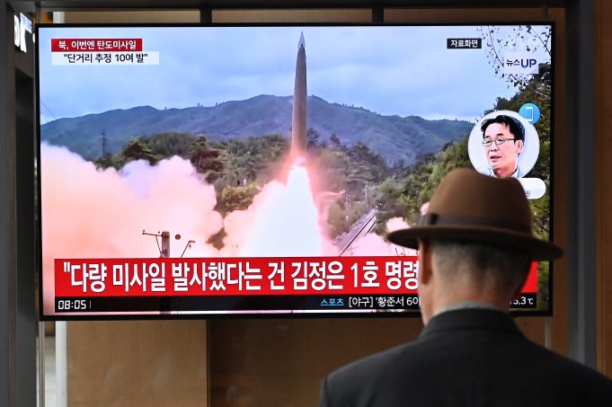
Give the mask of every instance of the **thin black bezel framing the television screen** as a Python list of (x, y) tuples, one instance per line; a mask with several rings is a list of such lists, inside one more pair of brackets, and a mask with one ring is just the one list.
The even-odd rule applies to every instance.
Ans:
[[(554, 242), (554, 127), (555, 127), (555, 65), (556, 44), (555, 22), (553, 21), (513, 21), (513, 22), (425, 22), (425, 23), (401, 23), (401, 22), (240, 22), (240, 23), (41, 23), (35, 26), (35, 36), (39, 39), (39, 30), (48, 28), (174, 28), (174, 27), (477, 27), (477, 26), (514, 26), (514, 25), (548, 25), (551, 27), (551, 99), (550, 99), (550, 184), (549, 184), (549, 236), (548, 240)], [(403, 312), (351, 312), (351, 313), (265, 313), (265, 314), (246, 314), (231, 312), (227, 314), (44, 314), (43, 312), (43, 278), (42, 278), (42, 224), (41, 224), (41, 189), (40, 189), (40, 56), (39, 43), (35, 47), (35, 76), (36, 76), (36, 267), (38, 272), (38, 311), (40, 321), (121, 321), (121, 320), (240, 320), (240, 319), (312, 319), (312, 318), (412, 318), (421, 317), (421, 312), (417, 310), (407, 310)], [(553, 316), (554, 309), (554, 261), (548, 261), (548, 309), (526, 311), (510, 308), (513, 316)]]

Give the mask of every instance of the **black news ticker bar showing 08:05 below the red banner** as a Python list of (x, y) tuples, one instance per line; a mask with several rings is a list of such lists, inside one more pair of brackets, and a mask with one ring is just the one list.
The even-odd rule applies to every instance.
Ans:
[[(512, 309), (536, 309), (535, 293), (521, 294)], [(58, 314), (416, 311), (419, 296), (58, 296)]]

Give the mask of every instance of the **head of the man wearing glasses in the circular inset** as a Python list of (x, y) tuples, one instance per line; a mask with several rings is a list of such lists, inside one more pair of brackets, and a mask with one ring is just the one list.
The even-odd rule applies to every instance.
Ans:
[(519, 119), (499, 115), (481, 125), (484, 155), (497, 178), (508, 178), (518, 169), (525, 145), (525, 128)]

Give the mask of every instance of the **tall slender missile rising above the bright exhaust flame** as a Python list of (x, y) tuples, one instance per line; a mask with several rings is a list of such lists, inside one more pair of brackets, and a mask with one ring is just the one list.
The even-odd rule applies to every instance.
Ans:
[(304, 32), (297, 43), (296, 82), (291, 117), (291, 158), (306, 159), (306, 42)]

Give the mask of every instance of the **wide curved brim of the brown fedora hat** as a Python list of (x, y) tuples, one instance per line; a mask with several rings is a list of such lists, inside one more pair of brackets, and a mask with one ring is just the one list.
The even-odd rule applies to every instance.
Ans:
[(489, 243), (527, 253), (531, 260), (554, 260), (563, 256), (563, 249), (531, 234), (484, 226), (414, 226), (396, 230), (386, 236), (391, 243), (418, 249), (418, 239), (448, 239), (458, 242)]

